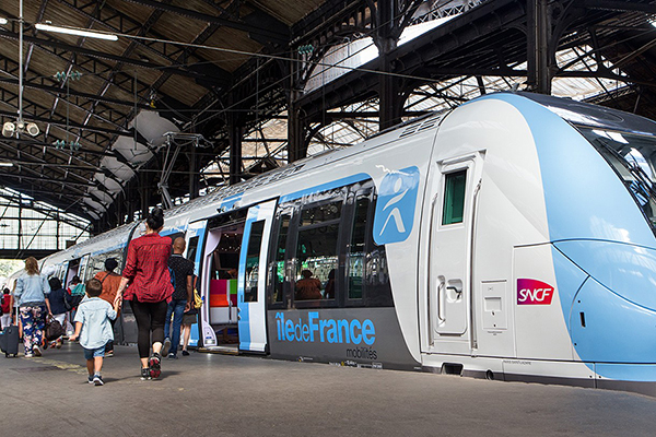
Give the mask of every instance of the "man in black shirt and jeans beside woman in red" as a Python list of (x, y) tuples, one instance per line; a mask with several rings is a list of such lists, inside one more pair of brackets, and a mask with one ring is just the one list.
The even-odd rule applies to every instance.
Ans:
[[(167, 358), (171, 359), (177, 358), (183, 315), (191, 308), (194, 303), (194, 262), (183, 257), (185, 248), (185, 238), (177, 237), (173, 241), (173, 255), (168, 258), (168, 268), (173, 271), (175, 284), (172, 299), (166, 309), (166, 324), (164, 324), (166, 340), (164, 340), (162, 354), (168, 354)], [(173, 329), (169, 333), (172, 315)]]

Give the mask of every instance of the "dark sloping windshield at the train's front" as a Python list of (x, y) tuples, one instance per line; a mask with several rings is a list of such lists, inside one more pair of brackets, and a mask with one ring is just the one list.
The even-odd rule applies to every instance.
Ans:
[(656, 137), (600, 128), (578, 130), (624, 181), (656, 233)]

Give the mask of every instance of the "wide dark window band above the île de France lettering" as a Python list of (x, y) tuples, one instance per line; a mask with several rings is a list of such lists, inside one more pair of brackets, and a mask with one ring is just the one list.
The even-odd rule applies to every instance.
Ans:
[[(270, 308), (393, 305), (385, 246), (373, 239), (376, 201), (365, 180), (279, 205)], [(283, 305), (292, 295), (293, 304)]]

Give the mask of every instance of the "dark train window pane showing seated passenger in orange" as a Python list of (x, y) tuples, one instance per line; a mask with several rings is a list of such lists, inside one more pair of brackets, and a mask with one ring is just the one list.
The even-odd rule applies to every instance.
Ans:
[(309, 204), (301, 210), (296, 243), (295, 300), (333, 299), (338, 269), (342, 200)]

